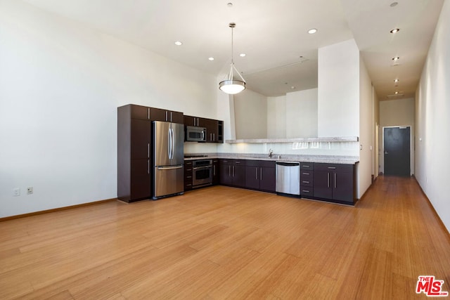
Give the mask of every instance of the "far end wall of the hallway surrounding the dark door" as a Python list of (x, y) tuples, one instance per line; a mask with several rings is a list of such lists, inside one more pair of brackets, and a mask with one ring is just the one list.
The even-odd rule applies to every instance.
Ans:
[(380, 101), (380, 171), (384, 172), (383, 127), (411, 127), (411, 175), (414, 174), (414, 98)]

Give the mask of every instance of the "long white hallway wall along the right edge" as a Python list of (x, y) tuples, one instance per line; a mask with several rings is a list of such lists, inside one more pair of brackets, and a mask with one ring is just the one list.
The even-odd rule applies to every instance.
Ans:
[(450, 231), (450, 2), (444, 1), (416, 91), (415, 176)]

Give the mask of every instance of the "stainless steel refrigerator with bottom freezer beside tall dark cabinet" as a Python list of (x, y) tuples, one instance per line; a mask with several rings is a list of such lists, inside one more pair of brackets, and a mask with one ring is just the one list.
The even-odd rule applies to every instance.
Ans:
[(153, 122), (153, 200), (184, 193), (184, 124)]

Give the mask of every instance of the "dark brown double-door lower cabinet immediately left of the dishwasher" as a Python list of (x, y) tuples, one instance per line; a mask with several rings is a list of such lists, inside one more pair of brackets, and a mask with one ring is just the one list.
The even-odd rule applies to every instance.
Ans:
[(248, 160), (245, 165), (245, 187), (275, 192), (275, 162)]

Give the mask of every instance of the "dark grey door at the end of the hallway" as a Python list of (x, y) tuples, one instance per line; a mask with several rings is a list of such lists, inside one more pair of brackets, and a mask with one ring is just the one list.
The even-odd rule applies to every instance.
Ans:
[(410, 127), (385, 127), (385, 175), (410, 176)]

